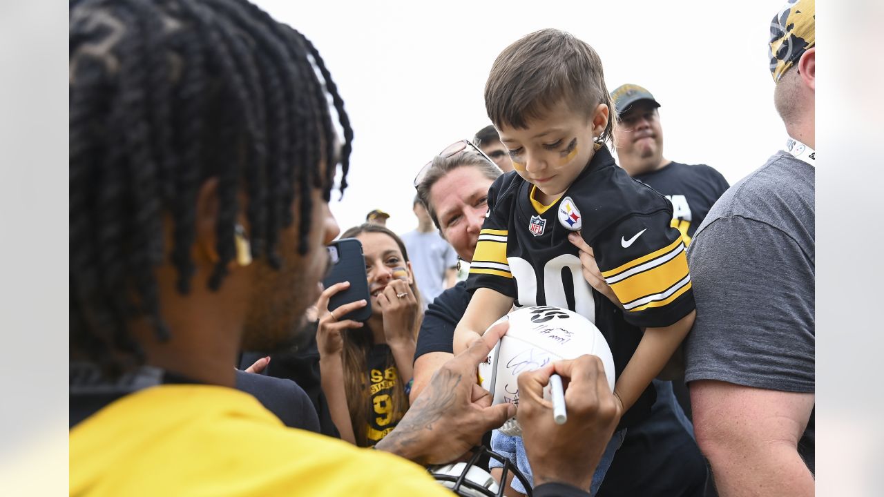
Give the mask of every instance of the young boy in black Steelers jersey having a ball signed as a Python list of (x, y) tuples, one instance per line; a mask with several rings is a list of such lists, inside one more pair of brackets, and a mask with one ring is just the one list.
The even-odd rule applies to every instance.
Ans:
[[(485, 107), (515, 171), (489, 191), (488, 217), (470, 264), (468, 287), (475, 293), (454, 333), (454, 353), (514, 302), (589, 317), (612, 350), (614, 394), (623, 414), (593, 478), (595, 493), (622, 429), (647, 416), (652, 378), (693, 325), (681, 234), (670, 226), (666, 198), (630, 179), (605, 147), (613, 103), (598, 54), (585, 42), (553, 29), (514, 42), (492, 66)], [(620, 306), (583, 279), (569, 241), (576, 236), (593, 249)], [(492, 439), (492, 448), (512, 454), (530, 478), (521, 444), (500, 433)]]

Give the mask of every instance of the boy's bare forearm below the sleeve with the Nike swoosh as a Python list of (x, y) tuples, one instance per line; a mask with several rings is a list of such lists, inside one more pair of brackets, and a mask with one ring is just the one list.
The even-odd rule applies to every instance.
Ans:
[(663, 370), (675, 349), (690, 332), (696, 316), (697, 312), (692, 310), (674, 325), (644, 330), (636, 352), (613, 388), (614, 394), (617, 394), (623, 404), (623, 412), (632, 407), (644, 389), (651, 384), (651, 380)]

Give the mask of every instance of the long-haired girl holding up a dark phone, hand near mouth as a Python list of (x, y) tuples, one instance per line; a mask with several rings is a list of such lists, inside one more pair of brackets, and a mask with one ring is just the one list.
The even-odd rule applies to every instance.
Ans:
[[(316, 302), (319, 369), (341, 439), (370, 447), (391, 432), (408, 410), (423, 315), (408, 252), (396, 233), (366, 224), (348, 229), (341, 238), (362, 243), (369, 296), (329, 311), (331, 296), (350, 283), (323, 291)], [(340, 319), (369, 301), (371, 314), (364, 322)]]

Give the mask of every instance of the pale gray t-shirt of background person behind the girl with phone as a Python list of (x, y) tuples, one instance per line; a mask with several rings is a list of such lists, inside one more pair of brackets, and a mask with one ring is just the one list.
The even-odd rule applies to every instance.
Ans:
[(400, 237), (408, 250), (415, 271), (417, 289), (421, 291), (423, 310), (445, 289), (445, 271), (457, 265), (457, 253), (438, 232), (417, 230)]

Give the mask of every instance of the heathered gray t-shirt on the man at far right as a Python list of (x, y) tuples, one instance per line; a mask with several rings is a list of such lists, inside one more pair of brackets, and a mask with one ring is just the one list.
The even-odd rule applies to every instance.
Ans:
[[(709, 211), (688, 250), (685, 380), (814, 391), (814, 168), (781, 151)], [(814, 470), (813, 414), (798, 444)]]

